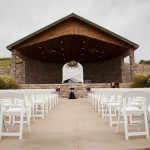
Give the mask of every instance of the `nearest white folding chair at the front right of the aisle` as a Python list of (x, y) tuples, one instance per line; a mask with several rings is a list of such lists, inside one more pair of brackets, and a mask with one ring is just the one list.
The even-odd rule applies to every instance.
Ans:
[[(140, 106), (130, 105), (132, 99), (142, 98)], [(125, 130), (125, 139), (128, 140), (130, 136), (141, 136), (145, 135), (146, 138), (149, 138), (149, 129), (147, 121), (147, 103), (148, 103), (148, 92), (140, 90), (130, 90), (123, 92), (121, 107), (118, 115), (118, 123), (116, 128), (116, 133), (119, 131), (120, 123), (124, 123)], [(129, 123), (129, 117), (132, 116), (132, 119), (136, 117), (138, 121), (134, 124)], [(123, 119), (121, 121), (121, 118)], [(135, 125), (138, 125), (137, 130), (135, 131)], [(134, 129), (129, 130), (129, 126), (134, 126)], [(140, 130), (139, 130), (140, 129)], [(130, 132), (131, 131), (131, 132)]]

